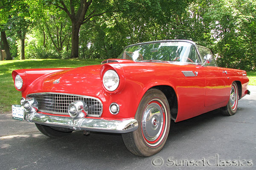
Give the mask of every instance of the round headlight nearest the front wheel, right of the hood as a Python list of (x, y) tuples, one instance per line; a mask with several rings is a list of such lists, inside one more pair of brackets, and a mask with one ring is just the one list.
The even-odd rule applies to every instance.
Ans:
[(108, 70), (103, 76), (103, 85), (108, 91), (114, 91), (119, 85), (119, 76), (116, 71)]

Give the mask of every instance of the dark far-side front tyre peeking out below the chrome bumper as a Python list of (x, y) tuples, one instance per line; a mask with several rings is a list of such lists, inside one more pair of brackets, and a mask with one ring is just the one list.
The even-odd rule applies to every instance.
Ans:
[(73, 132), (73, 130), (68, 128), (45, 126), (37, 123), (35, 124), (35, 126), (41, 133), (52, 138), (60, 138), (63, 136), (67, 136), (71, 132)]

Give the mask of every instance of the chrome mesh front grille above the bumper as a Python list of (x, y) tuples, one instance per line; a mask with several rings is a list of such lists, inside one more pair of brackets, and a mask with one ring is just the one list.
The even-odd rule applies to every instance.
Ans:
[(102, 102), (90, 96), (59, 93), (29, 94), (38, 101), (38, 111), (68, 115), (68, 105), (77, 100), (83, 100), (88, 106), (88, 116), (100, 117), (102, 114)]

